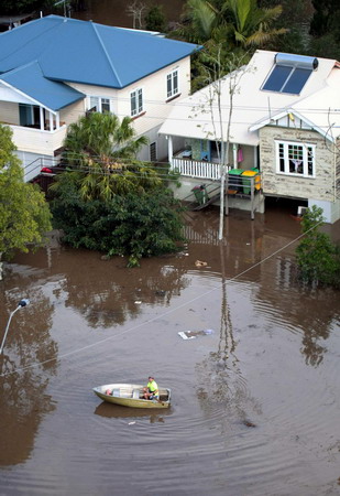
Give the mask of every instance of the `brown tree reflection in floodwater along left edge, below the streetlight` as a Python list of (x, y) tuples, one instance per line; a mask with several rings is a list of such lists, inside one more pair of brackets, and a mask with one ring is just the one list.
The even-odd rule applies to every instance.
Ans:
[[(55, 408), (52, 398), (45, 395), (48, 379), (56, 373), (53, 358), (57, 356), (57, 345), (50, 336), (54, 309), (40, 289), (29, 289), (29, 281), (26, 292), (32, 304), (24, 313), (15, 314), (0, 356), (1, 424), (6, 425), (0, 438), (1, 466), (22, 463), (30, 456), (42, 418)], [(21, 295), (22, 290), (19, 294), (18, 289), (4, 292), (1, 322), (8, 319)], [(48, 364), (29, 367), (51, 359)]]

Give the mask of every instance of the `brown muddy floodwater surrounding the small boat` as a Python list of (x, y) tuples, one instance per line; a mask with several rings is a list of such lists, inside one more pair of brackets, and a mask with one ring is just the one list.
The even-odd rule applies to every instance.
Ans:
[[(226, 230), (188, 214), (187, 250), (141, 269), (56, 242), (6, 266), (1, 327), (31, 304), (0, 357), (1, 495), (339, 494), (339, 293), (295, 282), (288, 214)], [(168, 411), (91, 391), (151, 373)]]

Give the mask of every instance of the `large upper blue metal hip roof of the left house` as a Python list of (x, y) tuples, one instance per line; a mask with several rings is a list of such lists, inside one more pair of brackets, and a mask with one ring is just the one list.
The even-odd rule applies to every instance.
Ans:
[(0, 34), (0, 73), (37, 61), (50, 79), (123, 88), (197, 50), (152, 33), (48, 15)]

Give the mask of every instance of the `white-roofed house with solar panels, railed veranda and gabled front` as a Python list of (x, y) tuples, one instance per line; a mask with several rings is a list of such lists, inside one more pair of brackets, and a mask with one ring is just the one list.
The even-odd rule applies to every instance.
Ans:
[(222, 141), (227, 140), (230, 88), (234, 88), (228, 168), (259, 169), (264, 198), (318, 205), (327, 222), (338, 220), (340, 64), (256, 51), (246, 66), (219, 83), (219, 88), (210, 85), (182, 100), (160, 129), (168, 140), (168, 160), (187, 185), (185, 193), (195, 180), (220, 177), (216, 143), (221, 126)]

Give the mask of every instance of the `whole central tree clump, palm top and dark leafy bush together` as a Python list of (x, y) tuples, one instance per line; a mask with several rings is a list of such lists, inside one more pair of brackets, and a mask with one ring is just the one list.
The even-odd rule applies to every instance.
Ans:
[(108, 256), (142, 257), (175, 251), (183, 239), (180, 205), (166, 188), (167, 168), (139, 162), (147, 141), (134, 137), (131, 119), (90, 114), (70, 126), (52, 212), (64, 241)]

